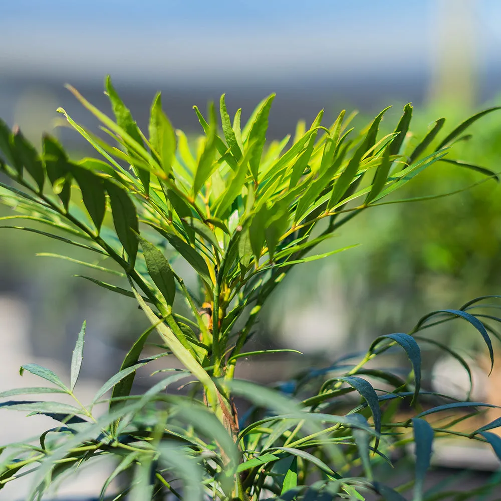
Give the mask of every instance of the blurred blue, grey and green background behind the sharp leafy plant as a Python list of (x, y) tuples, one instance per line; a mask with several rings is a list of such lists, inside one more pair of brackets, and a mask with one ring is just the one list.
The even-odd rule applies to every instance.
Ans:
[[(475, 111), (501, 104), (499, 26), (498, 0), (2, 2), (0, 116), (36, 144), (48, 131), (75, 155), (92, 153), (75, 132), (58, 126), (56, 108), (95, 126), (63, 86), (71, 83), (109, 110), (103, 80), (110, 73), (140, 127), (162, 90), (166, 113), (187, 133), (199, 132), (192, 106), (203, 108), (223, 92), (230, 114), (241, 107), (243, 119), (277, 93), (269, 139), (294, 133), (298, 120), (311, 121), (321, 108), (326, 122), (341, 109), (357, 109), (361, 126), (391, 104), (382, 125), (389, 131), (407, 102), (414, 105), (417, 135), (441, 116), (451, 130)], [(501, 114), (471, 132), (455, 158), (500, 171)], [(453, 191), (480, 177), (437, 164), (399, 198)], [(499, 195), (489, 181), (446, 198), (365, 211), (330, 243), (361, 245), (288, 277), (265, 312), (259, 342), (328, 363), (380, 334), (408, 331), (431, 310), (500, 294)], [(0, 207), (0, 215), (9, 213)], [(82, 272), (78, 265), (35, 256), (64, 253), (57, 243), (2, 231), (0, 335), (9, 349), (1, 355), (1, 389), (23, 382), (16, 376), (21, 363), (44, 359), (67, 370), (84, 319), (82, 374), (90, 389), (98, 386), (142, 331), (140, 312), (72, 277)], [(439, 335), (478, 359), (477, 395), (490, 398), (496, 385), (485, 379), (481, 340), (471, 331), (451, 324)], [(462, 391), (462, 374), (450, 361), (430, 353), (426, 364), (429, 380), (445, 375), (450, 391)], [(296, 368), (283, 359), (272, 367), (270, 378), (286, 378)], [(0, 422), (8, 419), (4, 414)]]

